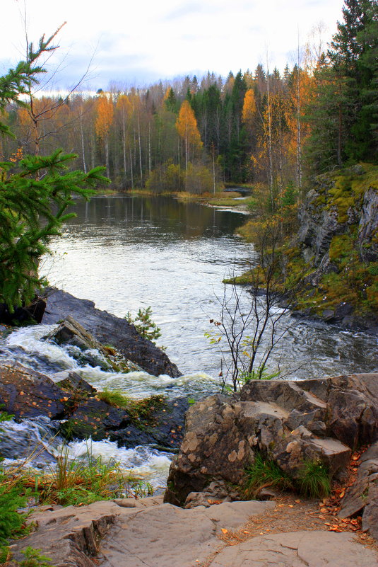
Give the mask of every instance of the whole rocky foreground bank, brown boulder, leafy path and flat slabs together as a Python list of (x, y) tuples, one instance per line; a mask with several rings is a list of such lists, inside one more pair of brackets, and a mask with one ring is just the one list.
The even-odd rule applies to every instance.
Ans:
[[(309, 459), (317, 454), (321, 462), (328, 462), (329, 474), (332, 471), (337, 478), (332, 490), (321, 498), (308, 498), (291, 489), (283, 494), (272, 481), (260, 479), (259, 497), (263, 498), (264, 492), (263, 500), (230, 501), (230, 496), (203, 491), (191, 492), (184, 509), (163, 503), (162, 497), (116, 498), (68, 508), (37, 507), (29, 520), (35, 522), (34, 532), (12, 542), (13, 558), (21, 559), (27, 546), (33, 546), (56, 567), (94, 567), (98, 561), (106, 567), (245, 567), (256, 562), (277, 567), (339, 567), (342, 546), (343, 567), (354, 567), (356, 561), (362, 567), (377, 567), (378, 442), (372, 442), (367, 450), (360, 448), (377, 439), (377, 374), (312, 380), (302, 386), (251, 382), (237, 399), (218, 396), (223, 406), (228, 404), (228, 410), (223, 407), (218, 411), (217, 421), (211, 414), (217, 403), (214, 396), (202, 400), (189, 411), (178, 460), (188, 457), (191, 465), (182, 463), (182, 473), (190, 474), (190, 468), (194, 472), (208, 466), (214, 457), (214, 470), (208, 471), (207, 481), (219, 488), (220, 475), (230, 476), (231, 469), (239, 470), (247, 453), (235, 437), (236, 425), (255, 454), (249, 455), (248, 470), (264, 444), (269, 454), (278, 451), (282, 457), (286, 452), (288, 458), (280, 462), (281, 473), (303, 466), (304, 455)], [(358, 397), (353, 407), (343, 403), (350, 395)], [(259, 401), (249, 401), (251, 398)], [(364, 405), (362, 401), (365, 411), (356, 413), (355, 408)], [(237, 411), (238, 404), (244, 404), (242, 411)], [(294, 406), (291, 413), (290, 404)], [(223, 425), (232, 422), (232, 409), (236, 420), (229, 435), (230, 427)], [(297, 428), (289, 433), (293, 420)], [(209, 428), (218, 428), (218, 439)], [(343, 442), (325, 437), (327, 433)], [(234, 443), (234, 451), (227, 440)], [(358, 449), (353, 448), (356, 445)], [(174, 464), (172, 470), (176, 468)], [(200, 472), (194, 473), (191, 490), (201, 480)], [(168, 495), (172, 494), (172, 482)], [(241, 491), (245, 485), (234, 481), (228, 487)]]

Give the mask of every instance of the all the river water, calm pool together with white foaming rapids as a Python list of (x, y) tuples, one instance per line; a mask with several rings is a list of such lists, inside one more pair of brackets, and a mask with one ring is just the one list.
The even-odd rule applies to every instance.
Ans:
[[(184, 377), (131, 372), (125, 378), (81, 368), (64, 348), (41, 340), (49, 329), (38, 327), (12, 333), (0, 344), (0, 359), (29, 363), (51, 376), (59, 370), (75, 370), (98, 389), (122, 389), (136, 397), (157, 391), (198, 397), (218, 391), (220, 353), (204, 333), (212, 328), (209, 319), (219, 319), (223, 277), (239, 275), (256, 260), (253, 247), (236, 234), (245, 215), (170, 197), (123, 195), (77, 201), (73, 210), (76, 217), (52, 241), (54, 254), (44, 259), (42, 273), (50, 284), (91, 299), (99, 309), (117, 316), (128, 311), (135, 315), (140, 307), (150, 306), (162, 331), (158, 344), (165, 345)], [(243, 302), (247, 309), (248, 294)], [(290, 377), (300, 379), (377, 370), (377, 340), (367, 333), (299, 321), (289, 314), (283, 316), (282, 324), (290, 328), (271, 355), (272, 371), (280, 365), (292, 372)], [(46, 423), (31, 422), (2, 427), (8, 433), (2, 436), (2, 445), (0, 440), (0, 452), (4, 454), (8, 447), (10, 458), (20, 456), (20, 446), (30, 445), (30, 437), (40, 442), (49, 429)], [(20, 444), (12, 449), (11, 439)], [(52, 445), (47, 442), (52, 458), (60, 443), (59, 438)], [(69, 450), (72, 457), (80, 456), (85, 443), (71, 443)], [(94, 442), (91, 451), (116, 457), (124, 466), (147, 474), (155, 486), (164, 483), (167, 454), (151, 447), (118, 449), (110, 442)]]

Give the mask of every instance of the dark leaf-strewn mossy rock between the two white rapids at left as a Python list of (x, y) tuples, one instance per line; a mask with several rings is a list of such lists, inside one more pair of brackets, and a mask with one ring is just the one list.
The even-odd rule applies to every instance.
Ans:
[[(118, 408), (96, 396), (96, 390), (74, 372), (60, 380), (14, 362), (0, 364), (0, 406), (17, 419), (45, 416), (61, 420), (66, 439), (109, 439), (122, 447), (152, 443), (175, 448), (182, 442), (186, 398), (153, 396)], [(139, 415), (140, 413), (140, 415)], [(58, 425), (59, 426), (59, 425)]]

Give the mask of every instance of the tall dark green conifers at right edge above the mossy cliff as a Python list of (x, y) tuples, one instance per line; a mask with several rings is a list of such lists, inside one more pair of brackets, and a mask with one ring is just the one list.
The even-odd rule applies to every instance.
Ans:
[(378, 2), (345, 0), (343, 23), (314, 72), (307, 164), (314, 173), (377, 160)]

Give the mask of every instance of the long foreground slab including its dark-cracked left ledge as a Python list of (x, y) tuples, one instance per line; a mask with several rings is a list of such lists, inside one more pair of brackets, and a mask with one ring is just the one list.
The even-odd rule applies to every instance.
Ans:
[(13, 546), (13, 556), (33, 546), (55, 567), (193, 567), (223, 542), (221, 529), (235, 530), (273, 502), (233, 502), (191, 510), (162, 498), (129, 498), (33, 514), (37, 531)]

